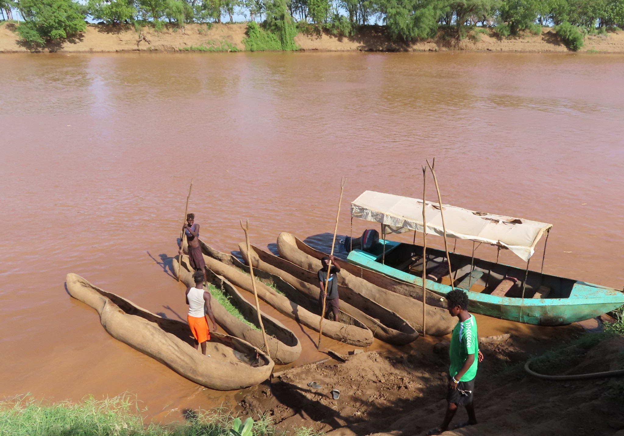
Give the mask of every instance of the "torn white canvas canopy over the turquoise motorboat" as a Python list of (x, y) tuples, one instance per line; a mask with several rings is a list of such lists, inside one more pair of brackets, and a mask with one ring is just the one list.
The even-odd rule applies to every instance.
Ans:
[[(457, 206), (442, 205), (446, 236), (485, 242), (508, 248), (524, 261), (535, 252), (535, 245), (552, 224), (475, 212)], [(442, 236), (442, 218), (437, 203), (426, 201), (427, 233)], [(386, 233), (423, 231), (422, 200), (375, 191), (364, 191), (351, 203), (351, 216), (376, 221)]]

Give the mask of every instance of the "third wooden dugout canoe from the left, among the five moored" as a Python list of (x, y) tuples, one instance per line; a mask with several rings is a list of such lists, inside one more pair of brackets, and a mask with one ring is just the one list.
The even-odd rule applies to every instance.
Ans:
[[(251, 277), (234, 266), (232, 256), (213, 249), (202, 240), (200, 240), (200, 246), (202, 247), (206, 268), (228, 279), (235, 286), (253, 293)], [(241, 266), (244, 267), (242, 264)], [(287, 296), (280, 295), (266, 286), (266, 284), (257, 281), (258, 297), (300, 324), (318, 331), (321, 317), (306, 309), (305, 306), (308, 303), (305, 299), (291, 301), (291, 297), (295, 298), (295, 296), (300, 295), (298, 291), (281, 279), (276, 283), (277, 285), (281, 288), (280, 291), (285, 292)], [(323, 334), (336, 341), (346, 342), (358, 347), (368, 347), (373, 343), (373, 332), (362, 322), (344, 312), (341, 312), (340, 319), (340, 322), (323, 319)]]

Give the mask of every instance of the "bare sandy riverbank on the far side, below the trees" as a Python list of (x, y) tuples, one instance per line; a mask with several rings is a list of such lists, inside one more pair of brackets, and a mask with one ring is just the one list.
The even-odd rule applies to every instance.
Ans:
[[(0, 52), (28, 52), (19, 44), (14, 24), (0, 24)], [(190, 24), (184, 32), (165, 29), (157, 32), (145, 28), (142, 36), (134, 27), (89, 25), (80, 37), (44, 49), (63, 52), (122, 52), (122, 51), (184, 51), (192, 47), (236, 47), (244, 50), (245, 24)], [(478, 39), (478, 41), (476, 41)], [(454, 44), (442, 37), (410, 44), (392, 42), (381, 27), (370, 26), (354, 37), (335, 37), (328, 34), (299, 34), (295, 42), (305, 51), (499, 51), (499, 52), (568, 52), (558, 41), (552, 29), (545, 27), (540, 35), (513, 39), (497, 39), (480, 34)], [(624, 53), (624, 32), (610, 32), (601, 36), (587, 36), (580, 52)]]

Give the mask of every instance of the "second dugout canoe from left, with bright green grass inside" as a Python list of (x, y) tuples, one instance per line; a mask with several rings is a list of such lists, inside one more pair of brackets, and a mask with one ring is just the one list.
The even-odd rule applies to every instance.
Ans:
[[(174, 274), (178, 271), (178, 259), (179, 256), (173, 258)], [(192, 268), (190, 268), (188, 264), (188, 256), (185, 256), (185, 258), (182, 258), (180, 279), (187, 286), (195, 286), (193, 273), (190, 272), (191, 269)], [(217, 288), (223, 289), (223, 292), (230, 296), (230, 301), (233, 306), (241, 312), (245, 319), (260, 329), (256, 306), (243, 298), (243, 296), (238, 292), (238, 289), (232, 286), (232, 284), (225, 278), (213, 275), (212, 277), (209, 276), (208, 279), (213, 285), (217, 286)], [(261, 330), (254, 329), (245, 324), (245, 322), (240, 321), (240, 319), (228, 312), (216, 298), (211, 299), (210, 306), (212, 307), (215, 321), (217, 321), (217, 323), (222, 326), (228, 334), (240, 337), (240, 339), (244, 339), (254, 347), (262, 350), (265, 349), (265, 342), (262, 337)], [(301, 356), (301, 343), (295, 333), (293, 333), (277, 319), (266, 314), (261, 314), (261, 316), (262, 322), (265, 326), (266, 342), (268, 342), (269, 356), (271, 356), (271, 359), (273, 359), (273, 361), (275, 361), (278, 365), (285, 365), (296, 361), (299, 356)]]

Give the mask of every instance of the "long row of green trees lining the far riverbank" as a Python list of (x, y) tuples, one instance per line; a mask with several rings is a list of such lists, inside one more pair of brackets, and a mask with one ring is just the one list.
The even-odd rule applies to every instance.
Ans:
[(24, 20), (19, 35), (41, 46), (84, 31), (87, 17), (158, 29), (233, 22), (241, 15), (260, 22), (260, 31), (273, 32), (277, 41), (311, 30), (351, 36), (374, 23), (400, 41), (433, 37), (441, 30), (461, 39), (471, 27), (508, 37), (555, 26), (572, 48), (580, 47), (579, 41), (582, 45), (584, 34), (624, 27), (624, 0), (0, 0), (3, 19), (13, 19), (15, 10)]

